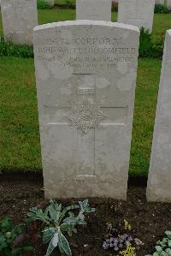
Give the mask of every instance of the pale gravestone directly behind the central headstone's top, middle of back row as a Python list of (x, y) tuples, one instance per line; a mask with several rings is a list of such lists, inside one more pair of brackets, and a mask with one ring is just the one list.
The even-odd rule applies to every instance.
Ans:
[(76, 0), (76, 19), (111, 21), (111, 0)]

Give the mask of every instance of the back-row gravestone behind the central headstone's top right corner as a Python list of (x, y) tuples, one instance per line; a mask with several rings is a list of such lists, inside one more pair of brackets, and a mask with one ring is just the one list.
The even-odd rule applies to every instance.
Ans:
[(150, 32), (153, 26), (155, 0), (120, 0), (118, 22), (144, 27)]

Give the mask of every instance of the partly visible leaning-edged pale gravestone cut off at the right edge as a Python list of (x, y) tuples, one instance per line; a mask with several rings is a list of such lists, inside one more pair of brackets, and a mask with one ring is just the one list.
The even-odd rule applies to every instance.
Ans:
[(166, 33), (147, 199), (171, 202), (171, 30)]

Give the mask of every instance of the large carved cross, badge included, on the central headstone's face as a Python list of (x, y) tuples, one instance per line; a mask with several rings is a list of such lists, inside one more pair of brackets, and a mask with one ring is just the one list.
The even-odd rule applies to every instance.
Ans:
[(76, 176), (96, 176), (96, 133), (107, 126), (125, 126), (127, 106), (103, 105), (102, 100), (97, 102), (96, 76), (81, 76), (89, 83), (76, 88), (74, 100), (68, 106), (44, 105), (44, 108), (46, 114), (50, 111), (61, 113), (55, 122), (47, 122), (47, 126), (56, 126), (56, 129), (62, 125), (68, 126), (79, 134), (74, 149), (78, 156), (78, 164), (75, 165)]

